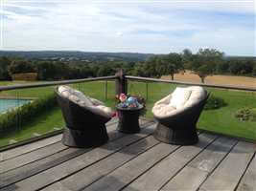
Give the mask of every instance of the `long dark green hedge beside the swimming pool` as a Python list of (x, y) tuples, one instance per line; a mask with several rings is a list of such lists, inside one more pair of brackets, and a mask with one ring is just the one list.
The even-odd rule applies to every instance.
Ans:
[(54, 94), (35, 99), (0, 116), (0, 132), (10, 132), (16, 126), (22, 126), (34, 117), (46, 112), (50, 108), (57, 106), (57, 99)]

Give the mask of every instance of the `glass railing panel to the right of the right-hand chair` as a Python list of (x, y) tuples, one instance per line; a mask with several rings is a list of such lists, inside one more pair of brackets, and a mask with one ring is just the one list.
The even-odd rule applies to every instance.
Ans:
[[(217, 104), (223, 104), (220, 104), (220, 108), (204, 110), (198, 127), (234, 137), (256, 139), (256, 94), (212, 88), (207, 90), (211, 93), (208, 105), (213, 105), (214, 100)], [(248, 113), (245, 114), (247, 109)], [(244, 117), (239, 117), (238, 114)]]

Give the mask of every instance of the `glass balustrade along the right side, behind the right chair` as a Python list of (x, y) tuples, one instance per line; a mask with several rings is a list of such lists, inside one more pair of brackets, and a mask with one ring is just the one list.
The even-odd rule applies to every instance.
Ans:
[[(171, 94), (176, 86), (182, 87), (169, 83), (148, 84), (146, 117), (152, 118), (153, 104)], [(145, 87), (145, 82), (129, 81), (128, 92), (146, 97)], [(199, 117), (198, 129), (256, 140), (256, 93), (216, 88), (206, 90), (211, 96)], [(236, 117), (241, 115), (243, 117)]]

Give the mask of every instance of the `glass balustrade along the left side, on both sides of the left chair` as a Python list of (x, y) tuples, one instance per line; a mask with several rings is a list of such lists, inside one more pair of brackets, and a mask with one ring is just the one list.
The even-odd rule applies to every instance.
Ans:
[[(114, 81), (70, 84), (87, 96), (115, 106)], [(55, 96), (56, 86), (0, 93), (0, 147), (53, 133), (64, 127)]]

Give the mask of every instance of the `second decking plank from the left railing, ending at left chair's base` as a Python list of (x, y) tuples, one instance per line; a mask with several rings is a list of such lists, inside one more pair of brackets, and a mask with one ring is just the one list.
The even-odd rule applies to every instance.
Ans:
[(46, 158), (48, 156), (51, 156), (67, 148), (68, 147), (63, 145), (62, 142), (57, 142), (57, 143), (50, 144), (45, 147), (36, 149), (33, 152), (23, 154), (16, 158), (5, 160), (1, 162), (0, 174), (10, 171), (14, 168), (23, 166), (25, 164), (31, 163), (35, 160)]

